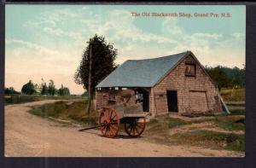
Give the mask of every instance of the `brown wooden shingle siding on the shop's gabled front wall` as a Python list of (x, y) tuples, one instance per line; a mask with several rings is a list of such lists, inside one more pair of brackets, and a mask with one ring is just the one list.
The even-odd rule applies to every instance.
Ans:
[[(195, 77), (185, 76), (185, 67), (188, 62), (196, 65)], [(223, 110), (220, 104), (218, 89), (214, 86), (214, 84), (212, 84), (212, 80), (203, 71), (199, 63), (190, 55), (181, 61), (179, 65), (177, 65), (177, 67), (175, 67), (172, 72), (166, 76), (166, 78), (160, 81), (159, 84), (156, 84), (152, 90), (154, 94), (158, 92), (166, 92), (166, 90), (177, 90), (178, 113), (192, 112), (196, 109), (204, 112), (221, 112)], [(190, 90), (204, 91), (206, 101), (199, 104), (195, 104), (196, 101), (190, 101)], [(197, 98), (202, 99), (200, 96)], [(168, 113), (166, 95), (162, 97), (155, 96), (155, 98), (152, 96), (150, 98), (155, 103), (154, 106), (150, 106), (151, 113)], [(194, 99), (196, 99), (196, 97)], [(191, 102), (193, 103), (193, 107), (191, 107)]]

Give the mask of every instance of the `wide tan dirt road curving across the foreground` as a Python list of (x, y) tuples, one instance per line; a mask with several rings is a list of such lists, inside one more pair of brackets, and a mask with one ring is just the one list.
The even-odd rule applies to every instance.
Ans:
[(6, 156), (241, 156), (225, 150), (166, 146), (144, 141), (145, 138), (102, 137), (99, 130), (79, 132), (78, 127), (63, 125), (32, 115), (32, 106), (54, 102), (34, 101), (5, 106)]

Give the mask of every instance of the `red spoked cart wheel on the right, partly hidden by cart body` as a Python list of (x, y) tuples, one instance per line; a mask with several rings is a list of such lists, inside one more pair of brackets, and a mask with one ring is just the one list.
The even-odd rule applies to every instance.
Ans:
[(146, 127), (146, 118), (131, 119), (125, 123), (125, 132), (131, 137), (142, 135)]

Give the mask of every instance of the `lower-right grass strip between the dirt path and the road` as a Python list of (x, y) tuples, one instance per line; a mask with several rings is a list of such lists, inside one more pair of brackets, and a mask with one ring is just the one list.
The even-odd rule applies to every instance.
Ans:
[(244, 135), (221, 133), (208, 130), (194, 130), (177, 133), (170, 137), (178, 144), (186, 144), (207, 148), (224, 148), (234, 151), (245, 151)]

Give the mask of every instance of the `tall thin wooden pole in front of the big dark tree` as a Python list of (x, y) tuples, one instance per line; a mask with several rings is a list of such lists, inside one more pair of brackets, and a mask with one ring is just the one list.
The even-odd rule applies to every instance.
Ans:
[(91, 106), (91, 63), (92, 63), (92, 44), (89, 46), (89, 78), (88, 78), (88, 105), (87, 105), (87, 114), (90, 115), (90, 106)]

